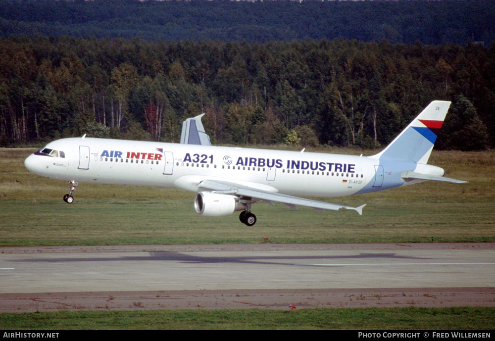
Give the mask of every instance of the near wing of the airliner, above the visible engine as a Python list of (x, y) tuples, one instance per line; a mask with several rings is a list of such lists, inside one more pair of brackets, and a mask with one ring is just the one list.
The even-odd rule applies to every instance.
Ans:
[(198, 187), (216, 193), (236, 195), (243, 198), (251, 198), (251, 200), (253, 201), (263, 200), (272, 205), (274, 204), (274, 201), (281, 202), (292, 209), (297, 209), (297, 205), (311, 207), (318, 211), (324, 211), (326, 209), (338, 211), (339, 209), (344, 208), (354, 210), (359, 213), (359, 215), (362, 215), (363, 207), (366, 206), (366, 204), (359, 207), (337, 205), (324, 201), (317, 201), (292, 195), (284, 195), (276, 192), (263, 191), (260, 189), (250, 188), (246, 185), (236, 184), (228, 181), (203, 180), (199, 183)]

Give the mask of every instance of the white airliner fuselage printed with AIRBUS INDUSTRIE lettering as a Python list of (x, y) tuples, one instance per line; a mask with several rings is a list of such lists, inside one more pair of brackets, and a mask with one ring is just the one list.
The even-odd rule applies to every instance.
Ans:
[[(379, 160), (364, 156), (93, 138), (57, 140), (46, 148), (62, 151), (65, 157), (35, 153), (26, 159), (26, 167), (42, 176), (77, 182), (197, 192), (202, 180), (230, 179), (269, 192), (321, 197), (404, 184), (399, 178), (405, 169), (394, 163), (393, 169), (378, 171), (383, 162), (379, 166)], [(407, 166), (406, 170), (415, 168), (410, 162)]]

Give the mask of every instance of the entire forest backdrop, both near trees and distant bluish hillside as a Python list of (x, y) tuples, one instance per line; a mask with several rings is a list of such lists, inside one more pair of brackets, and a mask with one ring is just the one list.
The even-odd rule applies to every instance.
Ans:
[(374, 147), (443, 99), (439, 147), (493, 147), (494, 22), (489, 0), (0, 0), (0, 146), (178, 142), (204, 112), (216, 144)]

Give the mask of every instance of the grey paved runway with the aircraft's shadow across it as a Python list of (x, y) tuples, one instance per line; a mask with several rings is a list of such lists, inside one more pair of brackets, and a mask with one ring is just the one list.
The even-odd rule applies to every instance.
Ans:
[(495, 305), (495, 244), (0, 248), (0, 311)]

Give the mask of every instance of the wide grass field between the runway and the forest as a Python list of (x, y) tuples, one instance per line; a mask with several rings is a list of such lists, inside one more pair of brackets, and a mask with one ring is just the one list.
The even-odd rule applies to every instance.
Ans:
[(425, 182), (323, 199), (366, 203), (362, 216), (257, 203), (258, 222), (247, 228), (238, 214), (196, 214), (194, 194), (175, 189), (80, 184), (68, 205), (61, 199), (68, 183), (24, 168), (34, 150), (0, 148), (0, 246), (495, 241), (494, 151), (433, 152), (430, 163), (468, 184)]

